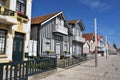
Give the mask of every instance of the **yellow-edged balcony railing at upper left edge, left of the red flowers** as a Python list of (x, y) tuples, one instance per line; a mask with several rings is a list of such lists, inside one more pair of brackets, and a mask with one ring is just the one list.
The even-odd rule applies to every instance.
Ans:
[(0, 6), (0, 14), (4, 16), (15, 16), (17, 13), (4, 6)]

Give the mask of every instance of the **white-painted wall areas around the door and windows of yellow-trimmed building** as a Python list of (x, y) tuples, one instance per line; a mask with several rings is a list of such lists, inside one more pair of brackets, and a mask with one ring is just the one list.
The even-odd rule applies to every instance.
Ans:
[[(27, 1), (27, 11), (26, 15), (29, 18), (29, 21), (27, 23), (22, 23), (23, 25), (23, 30), (21, 31), (22, 33), (26, 33), (25, 35), (25, 43), (24, 43), (24, 52), (29, 51), (29, 40), (30, 40), (30, 24), (31, 24), (31, 0), (26, 0)], [(16, 11), (16, 0), (10, 0), (10, 9)], [(19, 23), (19, 21), (18, 21)], [(18, 31), (18, 25), (13, 25), (11, 26), (11, 29), (9, 29), (9, 37), (7, 37), (7, 46), (6, 46), (6, 53), (8, 56), (8, 59), (12, 60), (12, 52), (13, 52), (13, 31)], [(23, 54), (24, 55), (24, 54)]]

